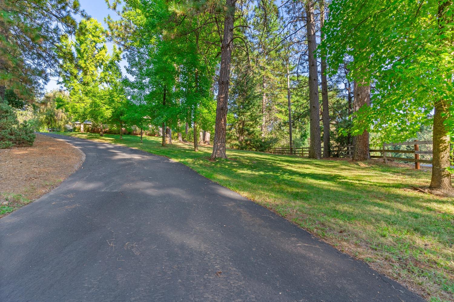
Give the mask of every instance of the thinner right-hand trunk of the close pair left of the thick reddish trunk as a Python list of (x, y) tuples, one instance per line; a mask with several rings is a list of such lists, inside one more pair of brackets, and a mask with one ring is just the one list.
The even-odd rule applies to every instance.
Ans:
[[(321, 41), (325, 39), (323, 24), (325, 23), (325, 0), (320, 1), (320, 31)], [(326, 77), (326, 58), (321, 57), (321, 101), (323, 120), (323, 158), (331, 157), (330, 149), (330, 108), (328, 102), (328, 81)]]

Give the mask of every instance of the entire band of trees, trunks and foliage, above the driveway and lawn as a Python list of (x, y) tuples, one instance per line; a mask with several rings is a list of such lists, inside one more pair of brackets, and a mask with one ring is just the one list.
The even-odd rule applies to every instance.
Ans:
[[(452, 4), (107, 0), (104, 28), (77, 1), (2, 1), (0, 92), (19, 110), (54, 102), (81, 130), (209, 142), (212, 159), (352, 145), (366, 160), (432, 127), (431, 188), (451, 192)], [(42, 98), (54, 75), (67, 99)]]

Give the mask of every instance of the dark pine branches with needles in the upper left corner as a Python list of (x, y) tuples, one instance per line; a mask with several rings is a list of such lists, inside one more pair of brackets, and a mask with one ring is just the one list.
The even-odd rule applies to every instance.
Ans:
[(18, 100), (31, 101), (49, 76), (57, 75), (55, 49), (62, 34), (74, 33), (75, 14), (84, 11), (73, 0), (1, 1), (0, 101), (15, 107)]

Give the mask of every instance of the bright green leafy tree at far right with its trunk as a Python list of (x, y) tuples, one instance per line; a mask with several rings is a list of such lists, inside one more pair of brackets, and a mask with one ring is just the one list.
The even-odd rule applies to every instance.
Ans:
[(332, 72), (350, 55), (350, 78), (375, 85), (370, 107), (356, 113), (352, 134), (378, 132), (382, 141), (395, 141), (433, 125), (430, 189), (448, 195), (454, 195), (453, 18), (452, 0), (337, 0), (330, 5), (323, 44)]

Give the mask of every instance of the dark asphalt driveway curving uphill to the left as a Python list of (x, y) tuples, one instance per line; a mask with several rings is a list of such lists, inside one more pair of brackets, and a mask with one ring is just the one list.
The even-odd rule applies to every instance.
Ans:
[(424, 301), (182, 164), (57, 134), (86, 159), (0, 219), (0, 301)]

